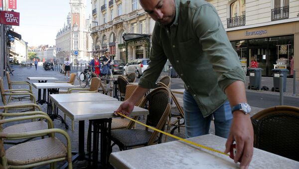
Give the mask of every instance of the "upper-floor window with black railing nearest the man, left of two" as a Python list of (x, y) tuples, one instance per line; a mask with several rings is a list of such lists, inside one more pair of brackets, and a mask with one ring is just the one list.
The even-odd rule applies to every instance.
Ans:
[(245, 0), (236, 0), (229, 5), (230, 13), (227, 18), (227, 28), (245, 25)]

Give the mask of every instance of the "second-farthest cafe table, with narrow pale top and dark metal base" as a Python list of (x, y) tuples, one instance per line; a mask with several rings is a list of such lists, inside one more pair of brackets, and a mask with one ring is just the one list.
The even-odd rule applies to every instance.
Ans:
[(52, 120), (54, 119), (59, 119), (61, 120), (62, 123), (65, 124), (65, 128), (68, 129), (68, 125), (66, 124), (66, 122), (64, 121), (64, 119), (58, 115), (58, 113), (54, 113), (52, 114), (52, 105), (49, 101), (49, 94), (58, 94), (59, 93), (59, 88), (74, 88), (75, 86), (72, 85), (72, 84), (69, 84), (69, 83), (32, 83), (32, 86), (35, 87), (36, 89), (48, 89), (48, 94), (46, 96), (47, 97), (47, 100), (46, 100), (46, 97), (45, 97), (45, 94), (44, 94), (44, 103), (47, 103), (47, 114), (50, 116), (50, 118)]

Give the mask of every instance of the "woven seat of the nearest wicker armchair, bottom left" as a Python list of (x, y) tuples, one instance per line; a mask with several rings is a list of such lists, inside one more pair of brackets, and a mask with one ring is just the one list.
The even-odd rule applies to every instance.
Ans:
[(28, 165), (67, 157), (66, 146), (57, 138), (46, 138), (15, 145), (6, 150), (8, 165)]

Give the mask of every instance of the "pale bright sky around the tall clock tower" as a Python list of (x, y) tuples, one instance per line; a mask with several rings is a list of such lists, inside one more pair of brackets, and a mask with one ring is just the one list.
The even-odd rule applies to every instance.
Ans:
[[(13, 26), (28, 46), (55, 45), (57, 32), (66, 23), (71, 11), (70, 0), (17, 0), (16, 12), (20, 13), (20, 25)], [(86, 14), (91, 13), (91, 1), (86, 0)]]

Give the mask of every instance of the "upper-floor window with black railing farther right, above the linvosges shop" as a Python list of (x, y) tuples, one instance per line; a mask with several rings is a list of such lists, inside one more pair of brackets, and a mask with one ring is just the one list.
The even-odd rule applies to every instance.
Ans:
[(274, 0), (274, 8), (271, 10), (271, 20), (289, 18), (289, 0)]

